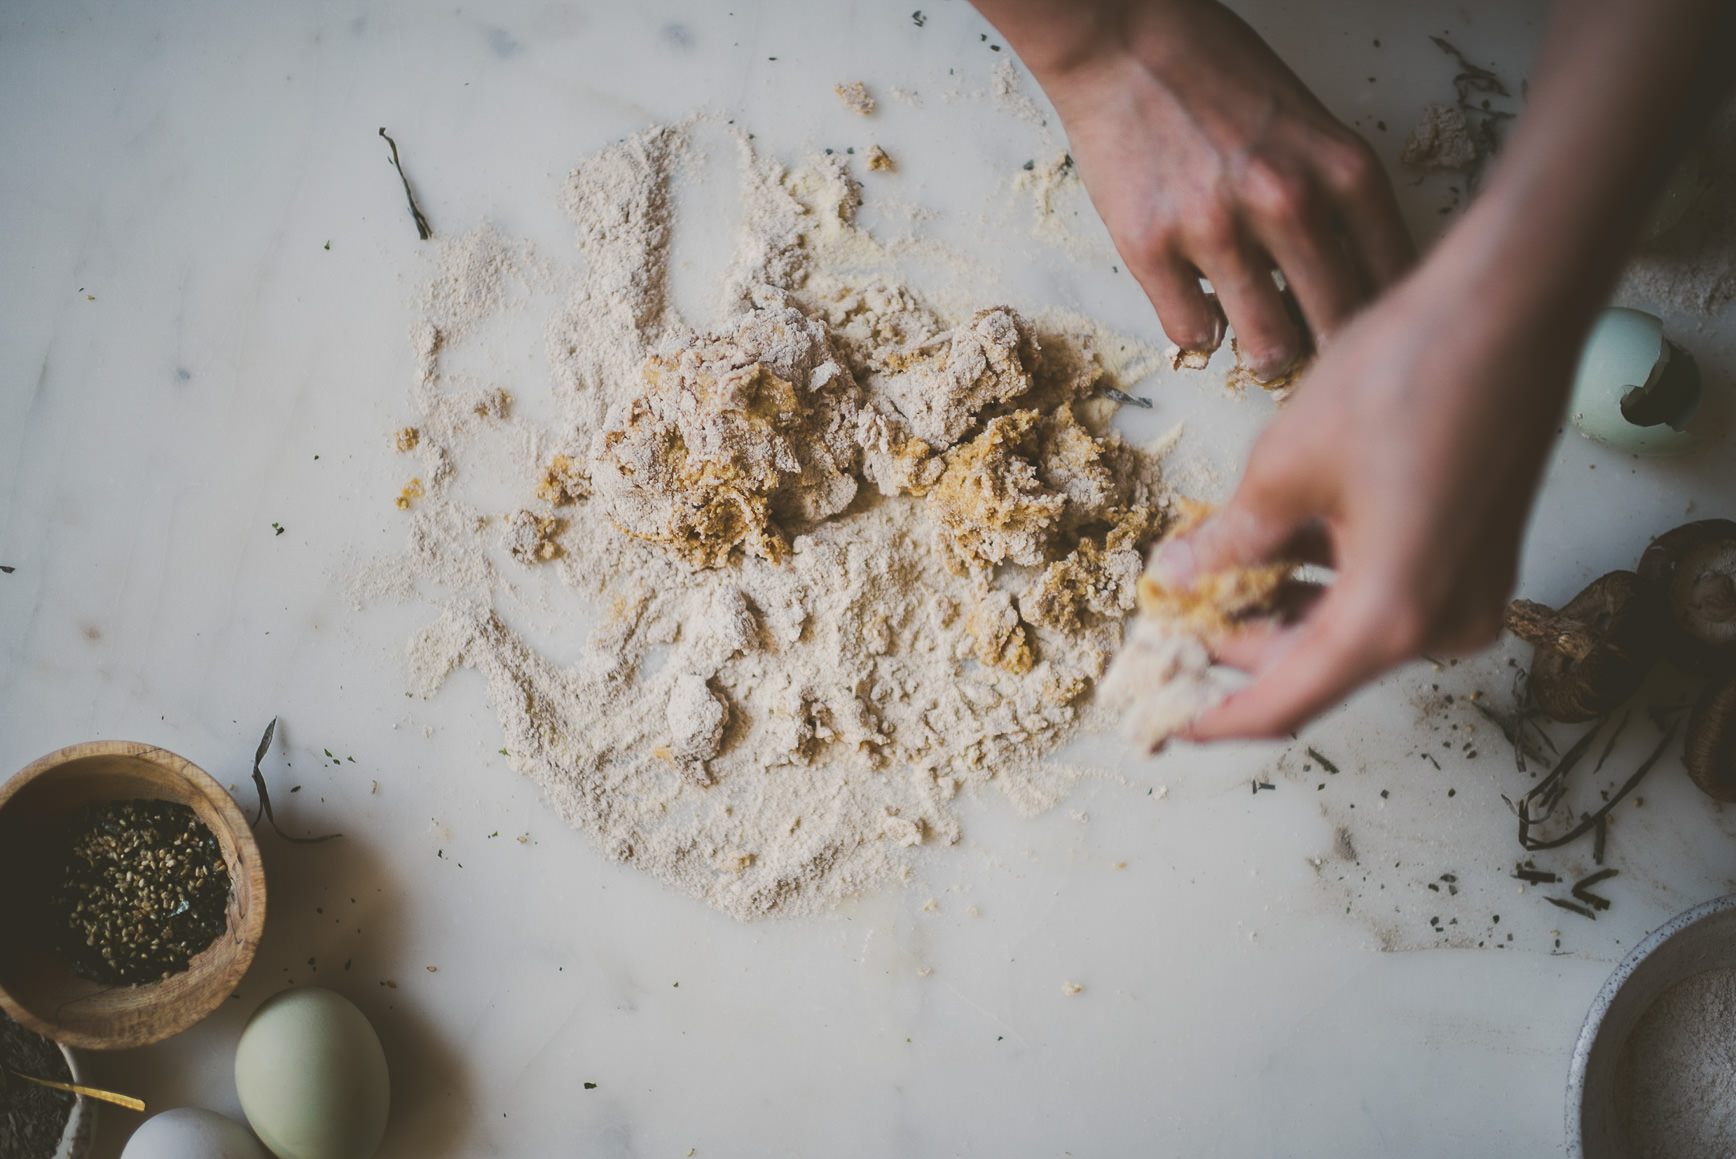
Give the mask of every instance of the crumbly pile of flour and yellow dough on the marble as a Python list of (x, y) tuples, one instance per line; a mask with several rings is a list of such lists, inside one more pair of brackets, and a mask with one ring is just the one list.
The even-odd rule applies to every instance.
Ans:
[[(807, 913), (957, 841), (962, 791), (1035, 812), (1078, 776), (1045, 755), (1101, 724), (1168, 512), (1102, 392), (1161, 356), (998, 304), (943, 314), (856, 226), (845, 158), (785, 172), (746, 135), (726, 321), (694, 331), (668, 297), (687, 132), (566, 184), (583, 269), (547, 324), (556, 423), (448, 371), (552, 272), (486, 227), (446, 243), (398, 439), (424, 494), (363, 590), (434, 606), (413, 692), (483, 673), (514, 767), (609, 854), (738, 918)], [(523, 435), (514, 508), (464, 498), (490, 429)], [(531, 567), (599, 618), (571, 665), (498, 611)]]

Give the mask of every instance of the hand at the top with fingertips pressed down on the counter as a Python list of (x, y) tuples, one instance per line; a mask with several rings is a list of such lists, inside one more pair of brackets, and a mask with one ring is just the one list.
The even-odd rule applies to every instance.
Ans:
[(1415, 260), (1373, 151), (1229, 9), (1099, 0), (1017, 43), (1021, 17), (1035, 17), (979, 3), (1054, 101), (1109, 236), (1179, 347), (1215, 349), (1227, 314), (1248, 368), (1276, 378), (1302, 338), (1274, 267), (1325, 338)]

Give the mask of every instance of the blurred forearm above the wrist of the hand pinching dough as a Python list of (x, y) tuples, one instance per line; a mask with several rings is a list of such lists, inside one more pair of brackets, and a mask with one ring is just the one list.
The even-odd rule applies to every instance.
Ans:
[(1555, 5), (1516, 132), (1484, 194), (1427, 262), (1476, 285), (1481, 319), (1585, 330), (1677, 153), (1729, 87), (1729, 9)]

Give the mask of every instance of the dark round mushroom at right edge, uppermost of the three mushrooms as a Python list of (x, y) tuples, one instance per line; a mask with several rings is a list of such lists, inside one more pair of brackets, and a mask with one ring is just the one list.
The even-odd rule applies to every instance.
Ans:
[(1696, 677), (1736, 673), (1736, 522), (1665, 531), (1639, 560), (1663, 609), (1663, 654)]

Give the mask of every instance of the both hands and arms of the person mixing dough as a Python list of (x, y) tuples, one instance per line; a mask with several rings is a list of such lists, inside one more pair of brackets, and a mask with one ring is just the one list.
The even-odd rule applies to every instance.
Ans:
[(1205, 276), (1250, 370), (1288, 368), (1278, 269), (1321, 347), (1229, 503), (1153, 560), (1172, 586), (1285, 557), (1335, 571), (1293, 623), (1217, 642), (1253, 678), (1189, 736), (1281, 736), (1422, 652), (1489, 644), (1585, 333), (1736, 80), (1736, 5), (1557, 5), (1500, 163), (1413, 265), (1375, 154), (1224, 5), (976, 3), (1177, 345), (1222, 337)]

